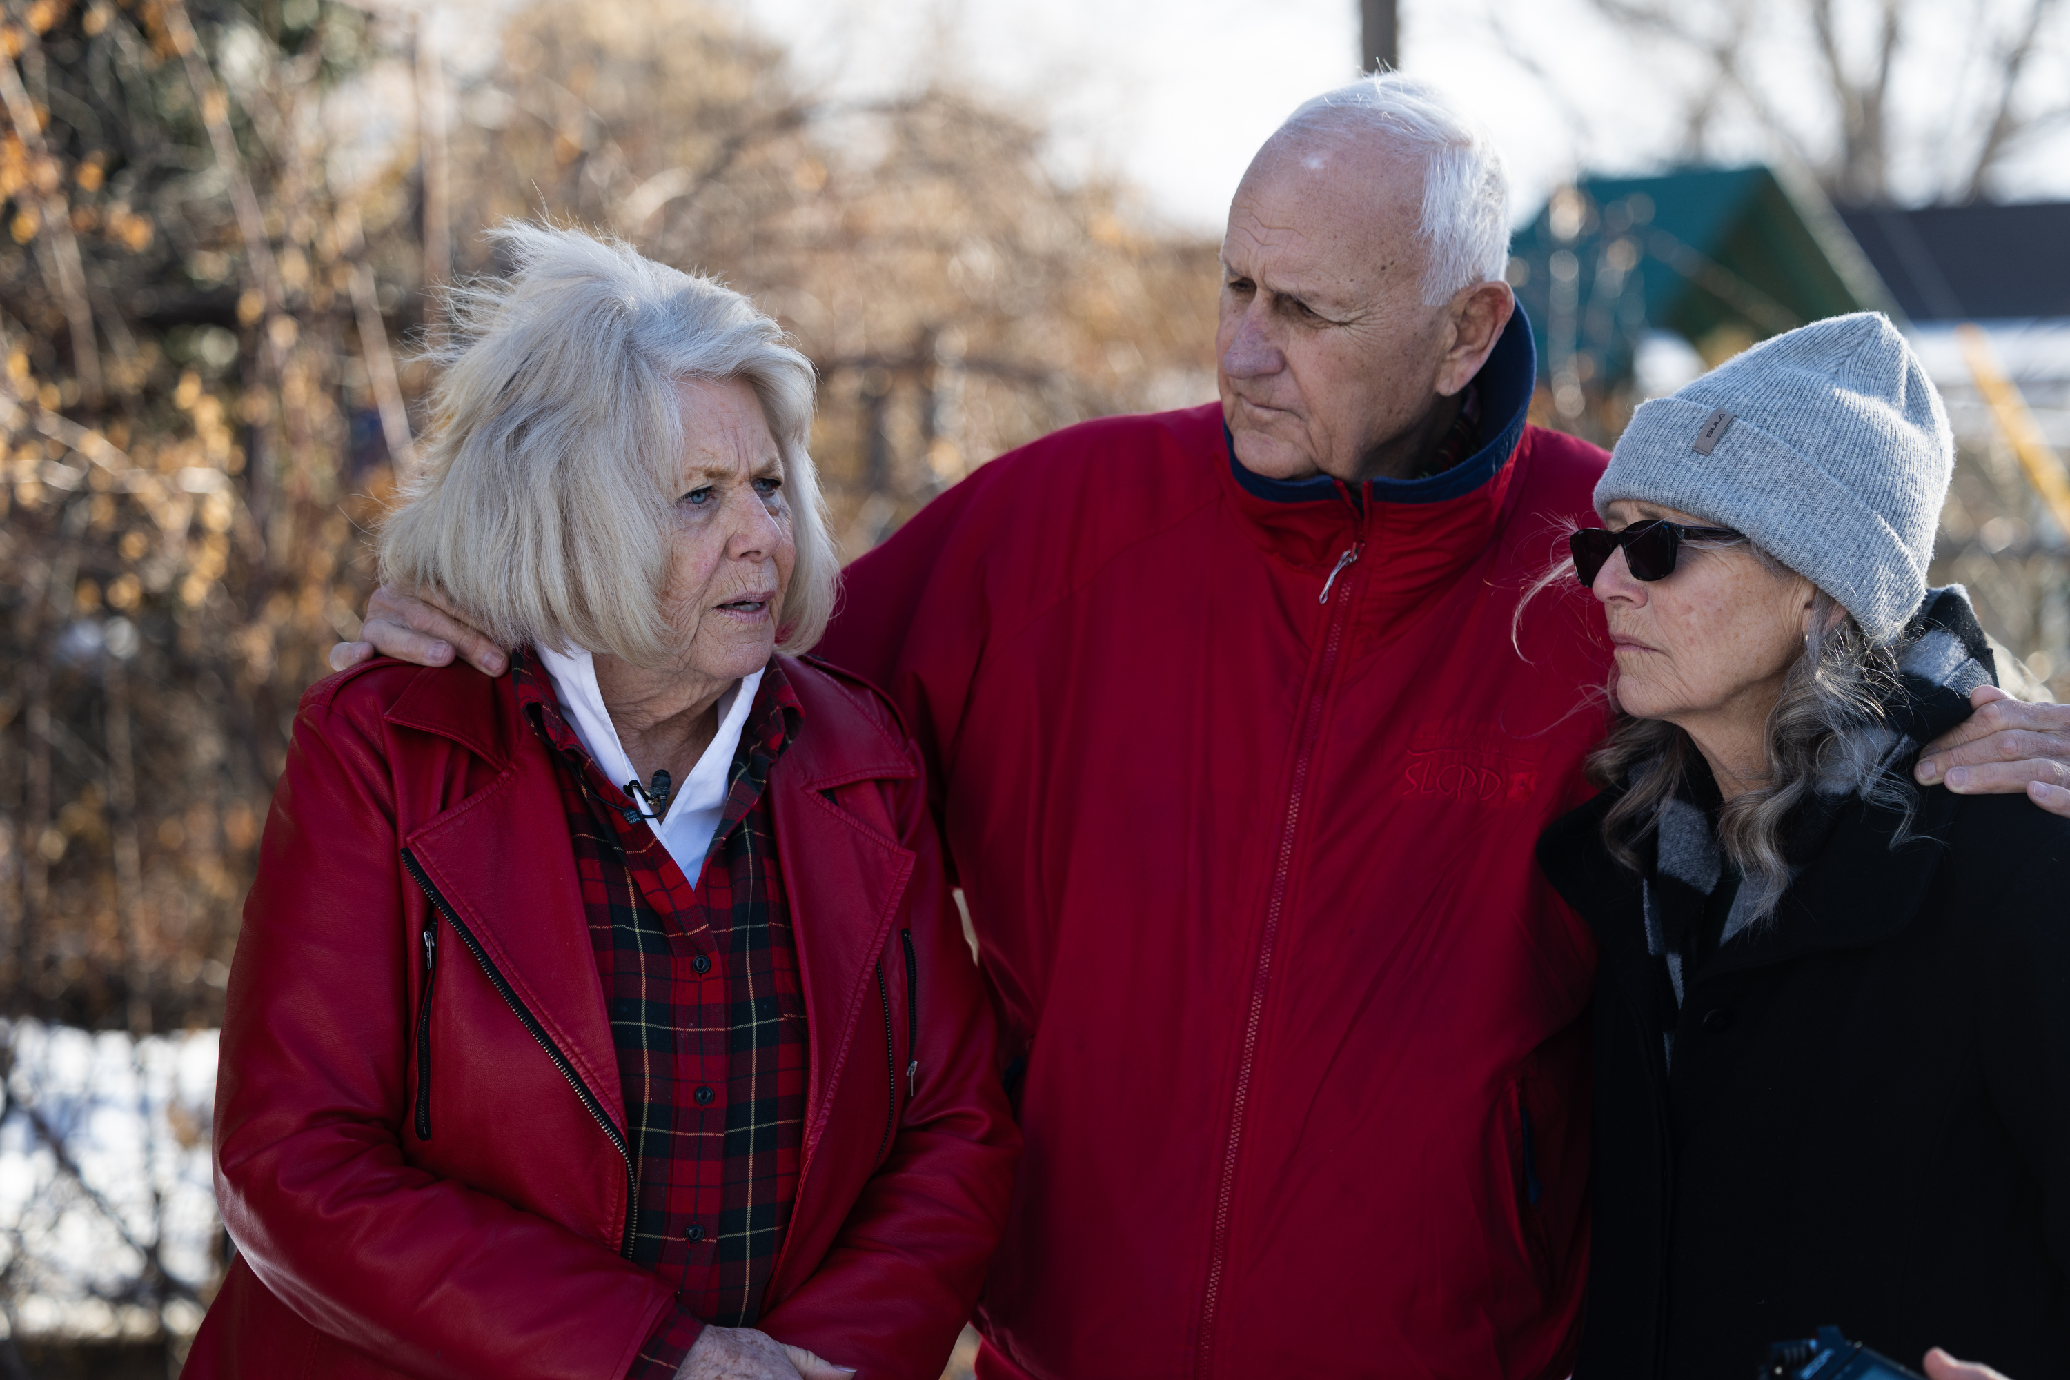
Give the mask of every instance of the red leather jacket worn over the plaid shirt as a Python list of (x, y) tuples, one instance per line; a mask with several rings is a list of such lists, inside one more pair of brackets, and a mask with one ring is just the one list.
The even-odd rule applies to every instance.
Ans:
[[(768, 790), (811, 1086), (760, 1326), (931, 1380), (998, 1243), (1018, 1132), (917, 753), (869, 691), (785, 674), (803, 730)], [(437, 1134), (418, 1140), (426, 1030)], [(553, 763), (509, 679), (383, 660), (304, 695), (219, 1068), (215, 1186), (240, 1254), (188, 1376), (617, 1380), (673, 1308), (621, 1256), (611, 1026)]]

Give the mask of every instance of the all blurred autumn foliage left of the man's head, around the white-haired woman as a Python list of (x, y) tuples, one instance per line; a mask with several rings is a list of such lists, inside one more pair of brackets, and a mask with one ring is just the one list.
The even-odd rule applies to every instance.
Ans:
[(424, 288), (499, 269), (482, 226), (621, 234), (776, 312), (851, 554), (975, 459), (1211, 395), (1213, 244), (1060, 184), (1012, 112), (816, 99), (698, 4), (534, 4), (466, 81), (426, 39), (333, 0), (8, 0), (10, 1014), (219, 1020), (296, 697), (422, 424)]

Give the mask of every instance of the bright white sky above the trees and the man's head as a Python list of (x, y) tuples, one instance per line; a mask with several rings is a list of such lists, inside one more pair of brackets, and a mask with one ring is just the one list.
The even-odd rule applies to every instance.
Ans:
[[(722, 2), (834, 93), (946, 70), (1045, 112), (1060, 168), (1122, 172), (1163, 217), (1203, 232), (1221, 228), (1244, 163), (1279, 120), (1358, 72), (1356, 0)], [(1606, 27), (1588, 0), (1403, 0), (1401, 10), (1403, 68), (1490, 126), (1519, 217), (1581, 166), (1646, 168), (1675, 143), (1664, 83), (1687, 74)], [(1935, 6), (1921, 12), (1942, 21)], [(1923, 60), (1952, 52), (1921, 50)], [(1795, 52), (1764, 62), (1782, 103), (1815, 89)], [(1935, 87), (1956, 79), (1942, 68), (1929, 77)], [(1751, 134), (1741, 145), (1743, 157), (1762, 153)], [(2024, 197), (2070, 194), (2064, 143), (2037, 151), (2010, 182)]]

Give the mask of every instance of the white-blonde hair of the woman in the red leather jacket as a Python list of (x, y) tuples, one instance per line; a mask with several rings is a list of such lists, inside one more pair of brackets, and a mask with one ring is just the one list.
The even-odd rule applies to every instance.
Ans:
[(381, 577), (439, 592), (505, 648), (669, 660), (662, 610), (683, 461), (681, 381), (743, 379), (782, 453), (797, 565), (778, 648), (834, 610), (838, 559), (805, 441), (811, 362), (739, 292), (621, 240), (505, 221), (507, 279), (447, 294), (422, 463), (381, 528)]

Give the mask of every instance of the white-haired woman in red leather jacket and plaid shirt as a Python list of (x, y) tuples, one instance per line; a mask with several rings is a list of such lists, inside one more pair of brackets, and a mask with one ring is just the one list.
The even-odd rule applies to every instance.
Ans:
[(232, 966), (188, 1376), (936, 1376), (1018, 1150), (919, 757), (799, 660), (811, 366), (507, 226), (391, 579), (515, 674), (302, 699)]

